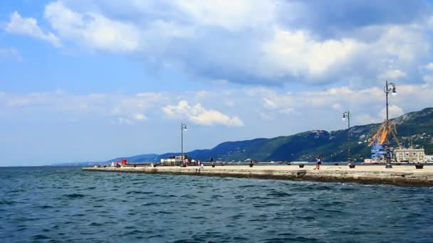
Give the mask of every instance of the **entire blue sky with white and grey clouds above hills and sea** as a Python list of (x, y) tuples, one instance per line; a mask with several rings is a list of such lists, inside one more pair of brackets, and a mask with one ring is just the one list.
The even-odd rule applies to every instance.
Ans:
[(432, 1), (0, 1), (0, 166), (345, 129), (433, 106)]

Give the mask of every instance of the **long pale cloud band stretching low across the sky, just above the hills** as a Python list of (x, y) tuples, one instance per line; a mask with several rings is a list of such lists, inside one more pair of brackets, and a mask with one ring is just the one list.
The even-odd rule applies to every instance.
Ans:
[[(281, 136), (310, 129), (343, 129), (345, 126), (340, 120), (346, 110), (350, 110), (353, 116), (353, 125), (385, 119), (382, 86), (362, 90), (340, 87), (296, 92), (278, 92), (264, 87), (245, 87), (230, 92), (213, 90), (212, 93), (220, 99), (191, 95), (196, 92), (187, 93), (182, 97), (177, 92), (137, 95), (0, 92), (0, 111), (5, 115), (33, 112), (37, 117), (41, 114), (58, 117), (61, 114), (71, 119), (80, 117), (80, 121), (85, 117), (99, 117), (114, 124), (130, 125), (184, 119), (203, 126), (242, 126), (242, 131), (251, 134), (251, 138)], [(397, 96), (389, 97), (390, 118), (431, 107), (431, 97), (432, 83), (397, 85)], [(230, 102), (229, 105), (226, 102)], [(231, 102), (236, 105), (231, 106)]]

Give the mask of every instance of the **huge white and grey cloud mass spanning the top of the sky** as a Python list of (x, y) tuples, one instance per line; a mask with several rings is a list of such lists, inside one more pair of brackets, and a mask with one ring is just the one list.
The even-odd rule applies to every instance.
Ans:
[[(62, 0), (47, 4), (44, 17), (64, 43), (129, 53), (139, 56), (147, 68), (179, 68), (204, 82), (356, 87), (384, 79), (422, 79), (418, 67), (428, 58), (432, 41), (427, 4), (330, 5), (281, 0)], [(53, 33), (41, 31), (35, 18), (14, 13), (12, 20), (27, 26), (14, 28), (21, 33), (59, 43)]]

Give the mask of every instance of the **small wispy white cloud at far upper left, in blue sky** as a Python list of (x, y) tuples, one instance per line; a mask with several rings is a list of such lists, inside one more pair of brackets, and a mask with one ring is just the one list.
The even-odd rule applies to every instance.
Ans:
[(41, 28), (38, 26), (38, 21), (36, 21), (36, 18), (23, 18), (16, 11), (11, 14), (11, 21), (6, 23), (5, 29), (8, 33), (18, 33), (33, 36), (43, 41), (48, 41), (55, 46), (61, 46), (61, 43), (56, 35), (51, 32), (44, 33), (41, 30)]

